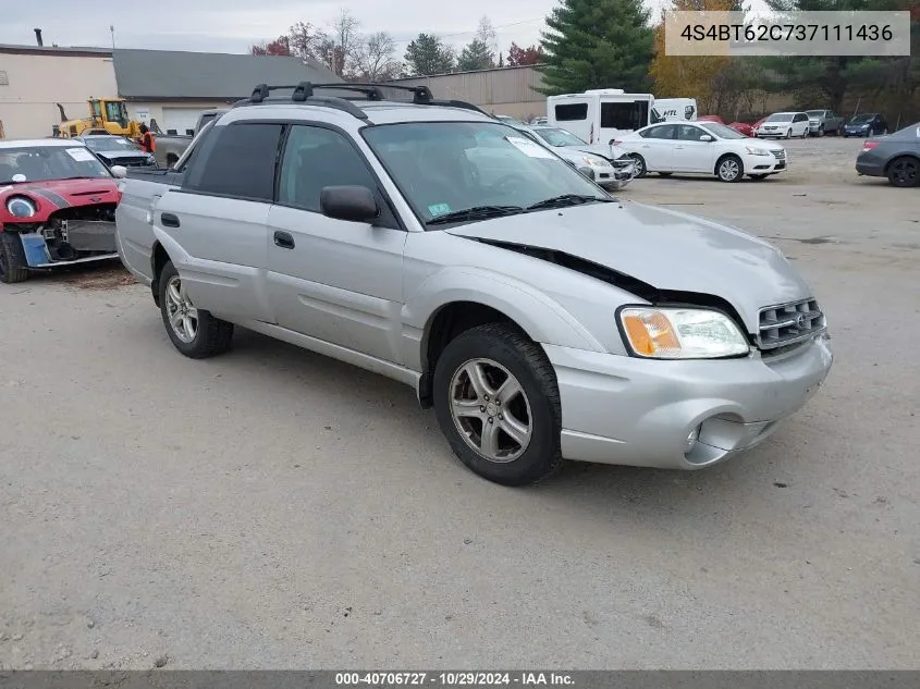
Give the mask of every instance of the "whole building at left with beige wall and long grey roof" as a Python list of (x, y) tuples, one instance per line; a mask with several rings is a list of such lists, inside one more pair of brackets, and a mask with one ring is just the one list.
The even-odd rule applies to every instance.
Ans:
[(120, 96), (132, 118), (185, 133), (204, 111), (248, 96), (260, 83), (341, 82), (299, 58), (0, 45), (0, 138), (51, 136), (61, 121), (89, 114), (87, 100)]

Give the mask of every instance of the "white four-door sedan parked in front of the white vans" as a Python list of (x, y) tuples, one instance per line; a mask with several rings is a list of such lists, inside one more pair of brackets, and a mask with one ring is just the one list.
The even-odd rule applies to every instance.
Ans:
[(636, 161), (636, 176), (657, 172), (715, 175), (740, 182), (763, 180), (786, 169), (786, 149), (739, 134), (717, 122), (652, 124), (618, 137), (615, 146)]

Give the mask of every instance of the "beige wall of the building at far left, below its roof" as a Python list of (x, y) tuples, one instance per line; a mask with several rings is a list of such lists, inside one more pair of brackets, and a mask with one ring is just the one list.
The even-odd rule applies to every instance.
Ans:
[(54, 103), (75, 120), (89, 115), (89, 98), (116, 94), (111, 56), (0, 49), (0, 122), (8, 139), (51, 136), (61, 120)]

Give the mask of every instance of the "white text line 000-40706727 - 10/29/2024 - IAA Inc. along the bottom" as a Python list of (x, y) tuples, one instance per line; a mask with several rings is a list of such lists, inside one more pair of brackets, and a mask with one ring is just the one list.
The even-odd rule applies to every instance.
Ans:
[(516, 672), (516, 673), (397, 673), (397, 672), (355, 672), (336, 673), (336, 687), (574, 687), (575, 682), (566, 673)]

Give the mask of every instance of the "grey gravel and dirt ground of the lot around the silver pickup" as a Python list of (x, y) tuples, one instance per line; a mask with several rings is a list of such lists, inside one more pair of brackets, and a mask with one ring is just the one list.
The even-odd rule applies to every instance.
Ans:
[(116, 267), (0, 285), (0, 669), (917, 667), (920, 190), (786, 145), (622, 194), (772, 238), (829, 313), (825, 389), (699, 472), (503, 489), (407, 387), (182, 357)]

